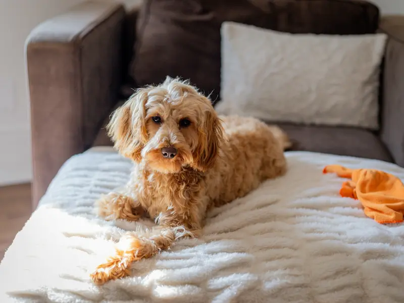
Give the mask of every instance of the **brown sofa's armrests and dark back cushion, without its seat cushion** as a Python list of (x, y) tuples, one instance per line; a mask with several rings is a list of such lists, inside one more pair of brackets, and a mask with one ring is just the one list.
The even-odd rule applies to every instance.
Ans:
[[(182, 76), (220, 93), (220, 24), (291, 33), (389, 35), (381, 75), (381, 129), (282, 124), (295, 150), (404, 166), (404, 19), (345, 0), (148, 0), (130, 10), (86, 2), (36, 27), (26, 43), (31, 103), (33, 207), (59, 168), (94, 145), (131, 87)], [(132, 49), (136, 51), (133, 52)], [(174, 64), (175, 63), (175, 64)]]

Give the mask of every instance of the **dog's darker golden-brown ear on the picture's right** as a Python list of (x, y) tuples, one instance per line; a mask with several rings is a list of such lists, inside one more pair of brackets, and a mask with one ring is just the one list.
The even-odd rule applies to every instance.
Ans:
[(198, 145), (192, 153), (192, 167), (200, 171), (211, 168), (219, 155), (222, 142), (222, 122), (212, 107), (205, 112), (205, 119), (198, 127)]

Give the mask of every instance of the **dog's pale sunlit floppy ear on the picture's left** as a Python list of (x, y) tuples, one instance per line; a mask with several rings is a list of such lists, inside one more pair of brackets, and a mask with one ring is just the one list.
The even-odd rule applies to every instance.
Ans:
[(107, 125), (108, 135), (119, 153), (136, 162), (141, 160), (141, 150), (147, 141), (146, 89), (137, 90), (127, 102), (118, 108)]

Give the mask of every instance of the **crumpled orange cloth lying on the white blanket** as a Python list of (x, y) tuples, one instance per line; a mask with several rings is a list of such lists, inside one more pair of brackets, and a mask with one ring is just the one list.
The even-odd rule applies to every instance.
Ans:
[(339, 194), (359, 199), (369, 218), (382, 224), (402, 222), (404, 185), (397, 177), (378, 170), (351, 170), (339, 165), (326, 166), (323, 173), (351, 179), (342, 184)]

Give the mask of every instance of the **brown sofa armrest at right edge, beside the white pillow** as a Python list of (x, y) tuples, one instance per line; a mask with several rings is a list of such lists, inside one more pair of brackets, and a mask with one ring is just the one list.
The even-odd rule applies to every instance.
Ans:
[(380, 31), (389, 36), (383, 72), (380, 137), (394, 162), (404, 167), (404, 16), (384, 16)]

